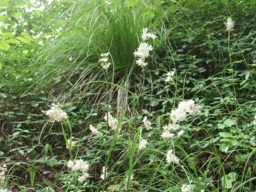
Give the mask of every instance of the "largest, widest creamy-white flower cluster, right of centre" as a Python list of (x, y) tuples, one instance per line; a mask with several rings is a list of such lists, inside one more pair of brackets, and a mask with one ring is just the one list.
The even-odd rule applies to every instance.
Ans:
[(186, 120), (186, 114), (189, 113), (190, 115), (196, 115), (201, 113), (200, 111), (201, 106), (195, 106), (195, 101), (192, 99), (187, 101), (182, 101), (179, 103), (178, 108), (172, 110), (170, 113), (170, 117), (172, 122), (177, 123), (180, 121)]

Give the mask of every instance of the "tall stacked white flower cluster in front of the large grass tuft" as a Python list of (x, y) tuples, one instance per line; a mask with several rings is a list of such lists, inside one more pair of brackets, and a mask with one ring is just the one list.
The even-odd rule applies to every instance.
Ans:
[(147, 32), (148, 28), (142, 29), (142, 42), (140, 42), (140, 46), (135, 50), (134, 57), (139, 57), (136, 61), (137, 65), (140, 67), (145, 67), (148, 65), (148, 63), (145, 63), (145, 58), (148, 58), (149, 52), (153, 50), (153, 47), (151, 44), (148, 44), (147, 42), (144, 42), (148, 40), (149, 38), (152, 38), (153, 40), (157, 38), (157, 35), (152, 34), (151, 32)]

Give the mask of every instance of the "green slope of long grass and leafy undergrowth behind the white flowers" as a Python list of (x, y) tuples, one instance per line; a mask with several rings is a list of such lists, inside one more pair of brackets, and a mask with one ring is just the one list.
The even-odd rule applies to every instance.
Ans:
[[(255, 5), (250, 3), (231, 1), (227, 6), (221, 1), (185, 1), (183, 7), (177, 3), (167, 3), (165, 7), (158, 3), (148, 7), (135, 3), (132, 9), (130, 5), (113, 4), (111, 9), (116, 9), (116, 15), (105, 14), (105, 6), (90, 9), (86, 1), (74, 4), (70, 8), (73, 15), (64, 25), (64, 29), (68, 26), (72, 30), (64, 30), (60, 38), (46, 45), (39, 52), (43, 61), (35, 64), (35, 70), (32, 66), (31, 70), (37, 74), (34, 79), (38, 81), (33, 81), (36, 84), (29, 88), (33, 82), (6, 78), (10, 78), (6, 87), (15, 82), (22, 88), (11, 91), (6, 88), (6, 102), (1, 104), (1, 113), (5, 113), (1, 121), (2, 143), (6, 143), (1, 151), (7, 152), (2, 158), (8, 161), (5, 157), (9, 156), (24, 162), (24, 167), (10, 169), (9, 180), (16, 182), (13, 176), (16, 175), (21, 177), (18, 186), (29, 187), (29, 183), (34, 184), (29, 180), (32, 175), (26, 178), (23, 174), (31, 173), (25, 168), (36, 165), (36, 188), (48, 185), (43, 180), (44, 170), (55, 173), (47, 176), (55, 190), (57, 186), (66, 189), (64, 183), (71, 182), (66, 168), (62, 168), (69, 154), (64, 150), (61, 127), (55, 123), (48, 133), (48, 125), (41, 145), (36, 145), (41, 128), (47, 122), (45, 116), (40, 115), (41, 110), (48, 109), (47, 103), (58, 101), (70, 116), (75, 140), (81, 141), (79, 157), (91, 165), (91, 191), (121, 184), (129, 173), (135, 174), (137, 182), (133, 187), (138, 191), (177, 191), (183, 183), (189, 182), (195, 185), (195, 191), (225, 191), (221, 178), (230, 172), (237, 174), (233, 191), (255, 190), (255, 131), (250, 123), (255, 114), (255, 72), (250, 65), (256, 59)], [(119, 19), (122, 14), (130, 15), (125, 20)], [(227, 16), (236, 21), (230, 34), (230, 54), (228, 33), (223, 24)], [(132, 52), (138, 45), (140, 29), (145, 26), (159, 38), (154, 42), (154, 57), (149, 59), (149, 67), (142, 73), (134, 69)], [(114, 72), (111, 68), (108, 76), (104, 76), (97, 60), (98, 54), (108, 49), (116, 68)], [(70, 56), (76, 61), (69, 61)], [(176, 68), (178, 96), (173, 94), (174, 85), (164, 83), (164, 68)], [(7, 69), (7, 73), (10, 70)], [(24, 70), (20, 71), (27, 76)], [(114, 85), (84, 84), (99, 80), (130, 90), (136, 96), (136, 104), (131, 93)], [(76, 88), (81, 84), (82, 87)], [(184, 137), (163, 143), (159, 135), (162, 126), (168, 123), (167, 113), (183, 98), (195, 99), (202, 106), (203, 115), (184, 124), (190, 123)], [(91, 137), (87, 129), (89, 124), (96, 126), (103, 122), (108, 109), (119, 119), (127, 109), (122, 119), (122, 134), (117, 135), (113, 148), (113, 132), (104, 137)], [(145, 115), (153, 122), (154, 129), (150, 132), (141, 131)], [(102, 132), (107, 133), (105, 124), (100, 125)], [(22, 132), (18, 132), (20, 128)], [(143, 153), (137, 154), (135, 150), (133, 154), (135, 135), (150, 142)], [(164, 162), (166, 150), (173, 145), (182, 166), (168, 166)], [(16, 150), (10, 151), (12, 149)], [(111, 175), (103, 182), (99, 175), (108, 155)], [(9, 164), (11, 167), (12, 161)], [(58, 175), (61, 170), (64, 172)]]

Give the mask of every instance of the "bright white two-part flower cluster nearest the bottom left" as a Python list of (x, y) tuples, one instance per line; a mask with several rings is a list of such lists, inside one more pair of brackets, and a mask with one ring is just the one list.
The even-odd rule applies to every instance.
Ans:
[(87, 173), (89, 170), (89, 163), (84, 162), (84, 160), (82, 159), (75, 160), (75, 162), (73, 162), (72, 160), (68, 161), (67, 167), (74, 172), (82, 172), (82, 175), (79, 176), (77, 179), (80, 183), (83, 183), (84, 180), (89, 177), (89, 174)]

